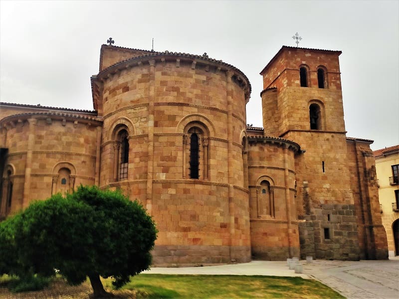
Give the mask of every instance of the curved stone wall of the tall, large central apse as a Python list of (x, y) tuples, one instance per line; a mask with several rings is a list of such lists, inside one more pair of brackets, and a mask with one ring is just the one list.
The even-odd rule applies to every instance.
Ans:
[[(242, 81), (214, 62), (154, 55), (123, 62), (127, 65), (97, 78), (104, 118), (100, 185), (124, 190), (154, 217), (159, 230), (154, 265), (247, 262)], [(191, 128), (200, 136), (195, 179)], [(129, 135), (124, 179), (115, 176), (121, 129)]]

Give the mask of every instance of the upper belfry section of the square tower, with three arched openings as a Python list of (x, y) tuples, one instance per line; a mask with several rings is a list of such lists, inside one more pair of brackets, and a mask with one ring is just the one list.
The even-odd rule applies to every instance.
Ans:
[(314, 131), (345, 134), (340, 54), (288, 46), (280, 49), (260, 73), (265, 135), (288, 138), (294, 132)]

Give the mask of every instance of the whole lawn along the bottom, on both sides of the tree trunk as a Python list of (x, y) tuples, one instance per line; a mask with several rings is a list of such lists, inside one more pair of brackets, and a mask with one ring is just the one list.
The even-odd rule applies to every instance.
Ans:
[[(10, 293), (9, 281), (6, 276), (0, 277), (0, 299), (88, 299), (92, 293), (88, 280), (72, 287), (58, 277), (49, 288), (23, 293)], [(299, 277), (142, 274), (118, 291), (112, 290), (111, 279), (102, 281), (115, 299), (345, 298), (315, 280)]]

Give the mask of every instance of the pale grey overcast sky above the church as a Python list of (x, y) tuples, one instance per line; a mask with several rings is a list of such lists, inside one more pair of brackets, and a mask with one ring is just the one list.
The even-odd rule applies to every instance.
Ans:
[(282, 45), (341, 50), (348, 137), (399, 144), (399, 1), (0, 0), (0, 101), (92, 110), (101, 44), (191, 54), (239, 68), (247, 123), (263, 127), (259, 72)]

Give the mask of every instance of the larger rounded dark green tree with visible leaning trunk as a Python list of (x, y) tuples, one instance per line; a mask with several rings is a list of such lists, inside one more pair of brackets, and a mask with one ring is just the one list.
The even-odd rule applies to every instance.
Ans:
[(74, 285), (88, 276), (94, 297), (107, 295), (100, 276), (120, 288), (148, 269), (157, 234), (139, 202), (95, 186), (32, 203), (13, 230), (19, 273), (49, 276), (58, 269)]

